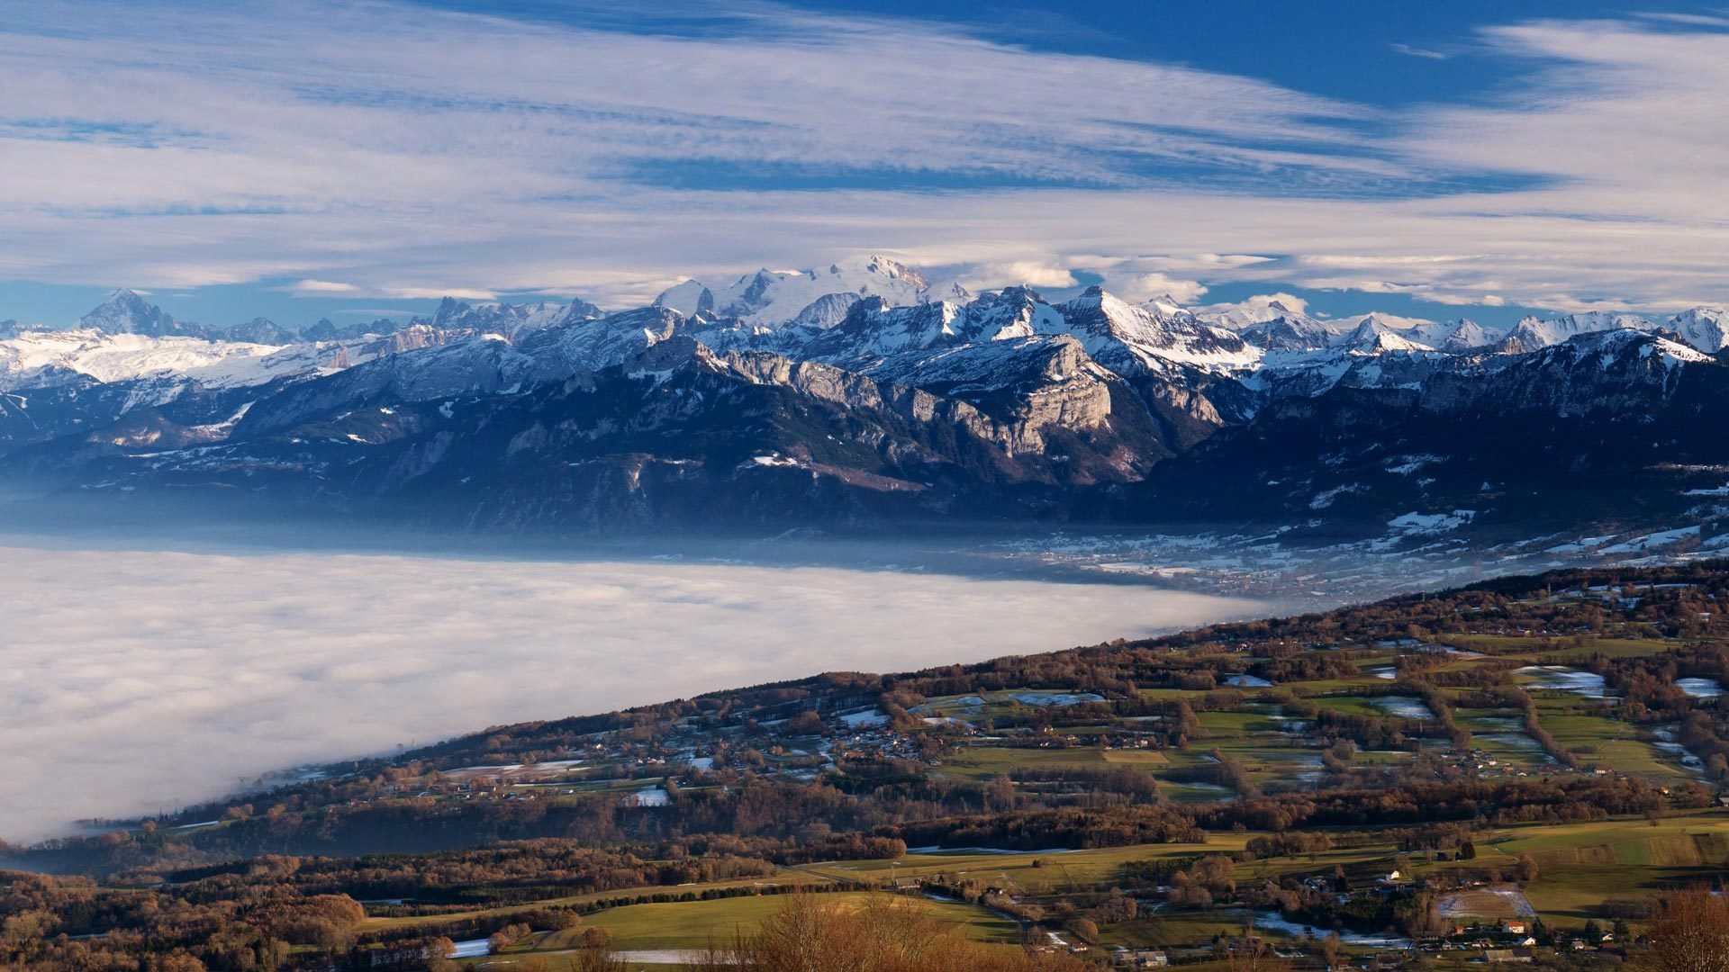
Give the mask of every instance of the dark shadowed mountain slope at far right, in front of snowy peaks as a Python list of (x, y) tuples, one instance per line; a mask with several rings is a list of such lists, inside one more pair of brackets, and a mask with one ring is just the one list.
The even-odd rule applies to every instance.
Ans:
[[(1729, 368), (1637, 330), (1456, 360), (1411, 384), (1279, 398), (1155, 469), (1112, 515), (1241, 510), (1264, 522), (1381, 526), (1470, 510), (1506, 534), (1637, 517), (1710, 519), (1729, 446)], [(1729, 510), (1726, 510), (1729, 512)]]

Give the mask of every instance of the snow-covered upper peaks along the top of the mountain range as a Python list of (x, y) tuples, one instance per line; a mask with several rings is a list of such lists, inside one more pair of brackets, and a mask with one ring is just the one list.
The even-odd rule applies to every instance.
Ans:
[[(766, 351), (896, 379), (930, 379), (937, 374), (930, 370), (935, 361), (944, 361), (942, 370), (965, 365), (967, 387), (987, 387), (992, 363), (1001, 363), (1003, 380), (1010, 382), (1008, 372), (1034, 368), (1048, 355), (1067, 361), (1072, 339), (1089, 367), (1127, 379), (1143, 393), (1172, 386), (1183, 389), (1176, 400), (1210, 396), (1228, 403), (1221, 408), (1231, 415), (1247, 417), (1267, 401), (1323, 394), (1337, 386), (1416, 387), (1432, 374), (1464, 374), (1478, 361), (1490, 370), (1504, 368), (1535, 351), (1592, 336), (1651, 337), (1662, 330), (1677, 339), (1641, 348), (1655, 348), (1651, 355), (1663, 367), (1698, 363), (1729, 344), (1729, 311), (1715, 306), (1675, 315), (1663, 329), (1634, 315), (1582, 313), (1532, 317), (1497, 332), (1470, 320), (1380, 313), (1317, 318), (1298, 299), (1292, 301), (1266, 297), (1191, 311), (1171, 297), (1131, 303), (1101, 287), (1048, 301), (1025, 285), (975, 297), (882, 256), (821, 270), (759, 270), (726, 287), (685, 280), (664, 291), (654, 306), (614, 313), (584, 301), (510, 304), (446, 297), (406, 327), (373, 322), (339, 329), (320, 322), (294, 330), (254, 318), (216, 330), (175, 320), (135, 291), (116, 291), (85, 315), (78, 330), (14, 329), (16, 337), (0, 341), (0, 387), (156, 382), (169, 375), (204, 387), (233, 387), (329, 375), (422, 351), (425, 356), (417, 361), (380, 363), (368, 374), (418, 368), (415, 374), (448, 375), (451, 387), (467, 387), (462, 382), (512, 387), (517, 379), (533, 384), (612, 367), (671, 339), (697, 341), (716, 353)], [(987, 349), (998, 342), (1022, 344), (1013, 351)], [(505, 344), (510, 353), (489, 344)], [(1617, 339), (1582, 341), (1554, 360), (1572, 367), (1587, 351), (1601, 356), (1618, 348)], [(968, 351), (956, 355), (958, 349)], [(503, 363), (510, 367), (498, 370)], [(484, 380), (470, 374), (484, 368), (494, 368)], [(1200, 408), (1210, 405), (1202, 401)]]

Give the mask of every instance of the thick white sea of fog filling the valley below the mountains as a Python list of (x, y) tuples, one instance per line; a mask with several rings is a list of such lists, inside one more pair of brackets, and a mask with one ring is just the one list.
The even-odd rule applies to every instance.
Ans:
[(1259, 616), (839, 567), (0, 545), (0, 837), (488, 725)]

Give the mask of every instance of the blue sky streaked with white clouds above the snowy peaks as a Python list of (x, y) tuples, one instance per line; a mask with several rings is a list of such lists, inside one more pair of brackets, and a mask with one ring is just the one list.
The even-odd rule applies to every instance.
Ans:
[(0, 0), (0, 318), (631, 306), (878, 251), (1330, 315), (1729, 301), (1707, 5)]

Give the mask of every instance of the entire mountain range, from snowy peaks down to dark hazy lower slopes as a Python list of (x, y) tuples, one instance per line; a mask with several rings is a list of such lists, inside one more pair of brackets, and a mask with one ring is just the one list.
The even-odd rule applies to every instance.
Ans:
[(214, 329), (116, 291), (71, 329), (0, 325), (0, 484), (514, 533), (1713, 533), (1726, 329), (1046, 301), (877, 256), (346, 327)]

